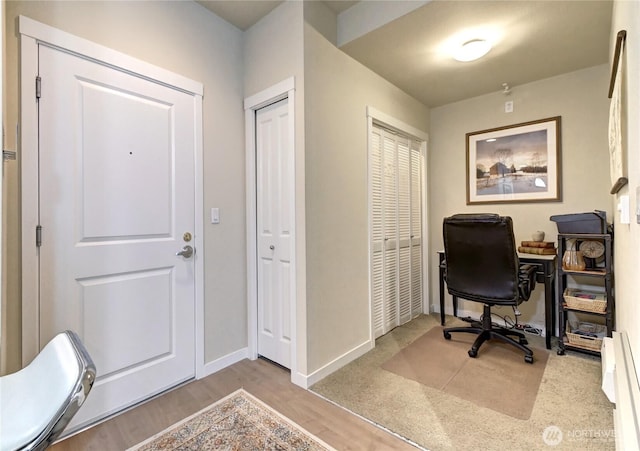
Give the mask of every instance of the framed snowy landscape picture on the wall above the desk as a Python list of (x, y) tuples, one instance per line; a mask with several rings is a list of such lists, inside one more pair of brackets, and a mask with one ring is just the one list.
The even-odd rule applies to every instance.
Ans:
[(561, 117), (470, 132), (467, 205), (559, 202)]

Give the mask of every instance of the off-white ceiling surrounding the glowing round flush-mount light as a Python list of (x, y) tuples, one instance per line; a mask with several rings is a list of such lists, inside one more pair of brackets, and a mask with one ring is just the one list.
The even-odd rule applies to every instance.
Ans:
[[(198, 3), (245, 30), (281, 2)], [(359, 2), (325, 3), (340, 14)], [(340, 48), (425, 105), (436, 107), (501, 91), (502, 83), (515, 90), (518, 85), (607, 63), (612, 7), (611, 0), (434, 0)], [(469, 31), (488, 31), (494, 48), (478, 61), (454, 61), (443, 48)], [(603, 95), (607, 88), (603, 87)]]

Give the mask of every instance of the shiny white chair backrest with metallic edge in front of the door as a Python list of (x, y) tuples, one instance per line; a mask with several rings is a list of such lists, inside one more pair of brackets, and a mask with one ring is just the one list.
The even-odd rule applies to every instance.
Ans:
[(80, 409), (95, 377), (72, 331), (56, 335), (20, 371), (0, 377), (0, 450), (46, 449)]

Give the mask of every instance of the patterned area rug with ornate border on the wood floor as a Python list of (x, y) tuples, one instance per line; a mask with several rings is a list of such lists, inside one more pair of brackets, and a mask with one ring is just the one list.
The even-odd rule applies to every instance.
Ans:
[(334, 450), (243, 389), (129, 451)]

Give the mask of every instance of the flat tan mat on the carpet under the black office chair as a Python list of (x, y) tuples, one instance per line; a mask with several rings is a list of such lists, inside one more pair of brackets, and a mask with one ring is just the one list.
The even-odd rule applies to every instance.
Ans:
[(382, 368), (399, 376), (526, 420), (538, 394), (549, 354), (534, 351), (533, 364), (506, 343), (485, 342), (472, 359), (467, 354), (476, 335), (458, 332), (445, 340), (442, 327), (429, 330), (387, 360)]

